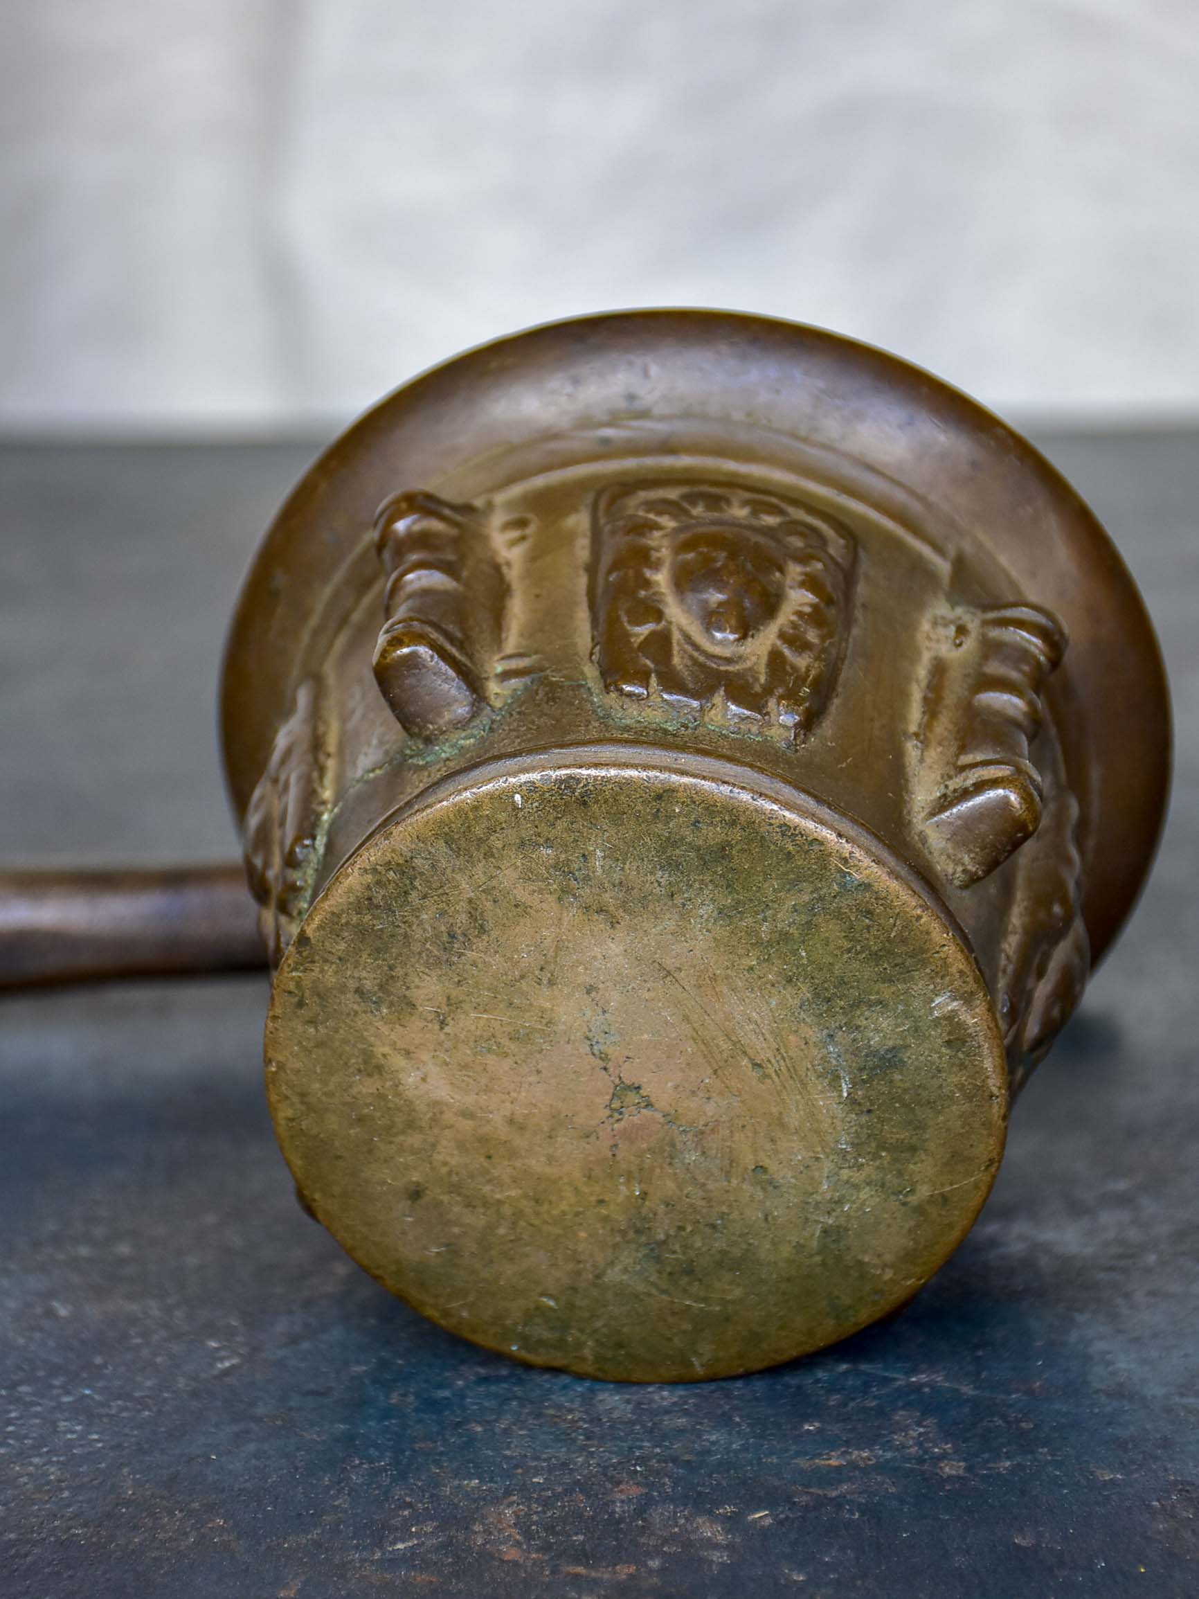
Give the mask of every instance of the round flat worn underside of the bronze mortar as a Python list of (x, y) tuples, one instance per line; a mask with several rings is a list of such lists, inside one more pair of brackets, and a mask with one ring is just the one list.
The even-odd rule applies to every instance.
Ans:
[(767, 779), (655, 752), (476, 769), (380, 828), (275, 982), (317, 1217), (476, 1343), (695, 1380), (903, 1303), (1002, 1153), (946, 915)]

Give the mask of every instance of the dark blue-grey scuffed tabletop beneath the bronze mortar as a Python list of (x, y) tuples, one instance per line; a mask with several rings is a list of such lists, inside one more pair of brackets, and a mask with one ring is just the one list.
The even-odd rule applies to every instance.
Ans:
[[(296, 1207), (257, 979), (0, 1006), (5, 1599), (1199, 1591), (1199, 437), (1044, 440), (1170, 659), (1159, 870), (900, 1318), (615, 1388), (427, 1326)], [(221, 630), (310, 451), (0, 451), (0, 855), (216, 857)]]

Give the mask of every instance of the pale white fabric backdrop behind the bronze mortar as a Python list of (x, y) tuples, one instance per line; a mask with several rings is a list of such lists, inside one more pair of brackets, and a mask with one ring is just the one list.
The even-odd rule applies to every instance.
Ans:
[(0, 427), (344, 416), (713, 304), (1199, 406), (1194, 0), (3, 0)]

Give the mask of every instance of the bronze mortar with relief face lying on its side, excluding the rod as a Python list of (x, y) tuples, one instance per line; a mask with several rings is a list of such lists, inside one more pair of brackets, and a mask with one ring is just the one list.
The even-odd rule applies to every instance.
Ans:
[(494, 1350), (695, 1380), (945, 1262), (1124, 919), (1162, 667), (1090, 512), (927, 374), (643, 312), (398, 390), (224, 680), (304, 1202)]

